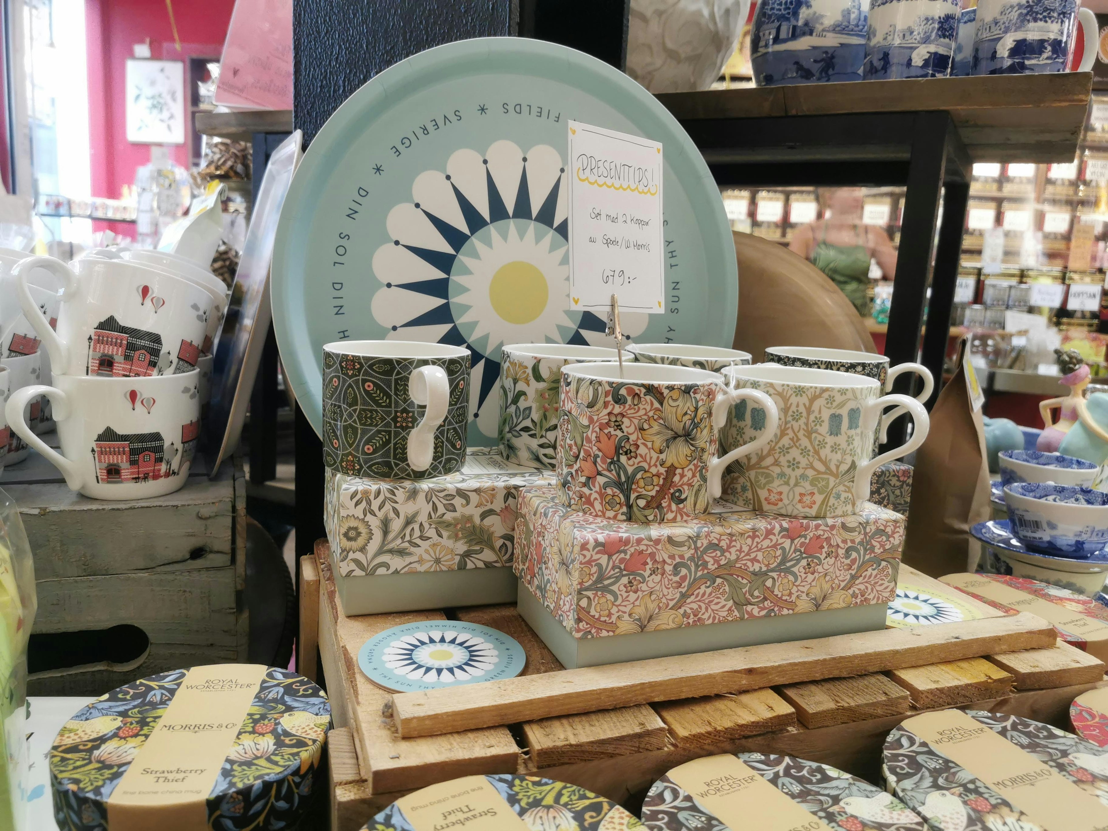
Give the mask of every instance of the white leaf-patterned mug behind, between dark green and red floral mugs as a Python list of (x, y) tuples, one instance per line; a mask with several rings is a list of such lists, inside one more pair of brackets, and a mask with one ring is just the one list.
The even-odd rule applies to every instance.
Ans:
[[(573, 343), (512, 343), (500, 351), (500, 422), (505, 461), (554, 470), (562, 367), (618, 360), (615, 349)], [(632, 355), (624, 351), (624, 360)]]

